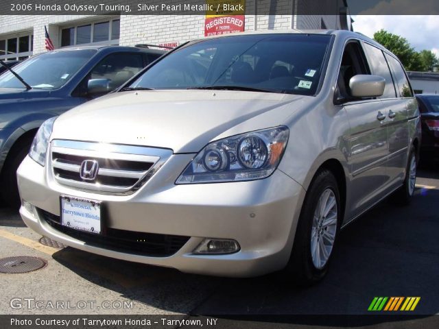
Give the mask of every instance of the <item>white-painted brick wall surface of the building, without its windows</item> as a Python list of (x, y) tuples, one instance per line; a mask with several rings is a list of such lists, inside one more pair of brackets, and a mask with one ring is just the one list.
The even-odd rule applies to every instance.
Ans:
[[(277, 5), (282, 5), (282, 1), (278, 1)], [(40, 53), (45, 51), (44, 25), (58, 48), (62, 25), (99, 19), (105, 19), (105, 16), (0, 16), (0, 39), (14, 37), (21, 32), (33, 33), (34, 53)], [(204, 15), (121, 15), (120, 19), (120, 45), (182, 43), (204, 36)], [(245, 29), (319, 29), (322, 19), (328, 28), (340, 28), (338, 16), (246, 15)]]

